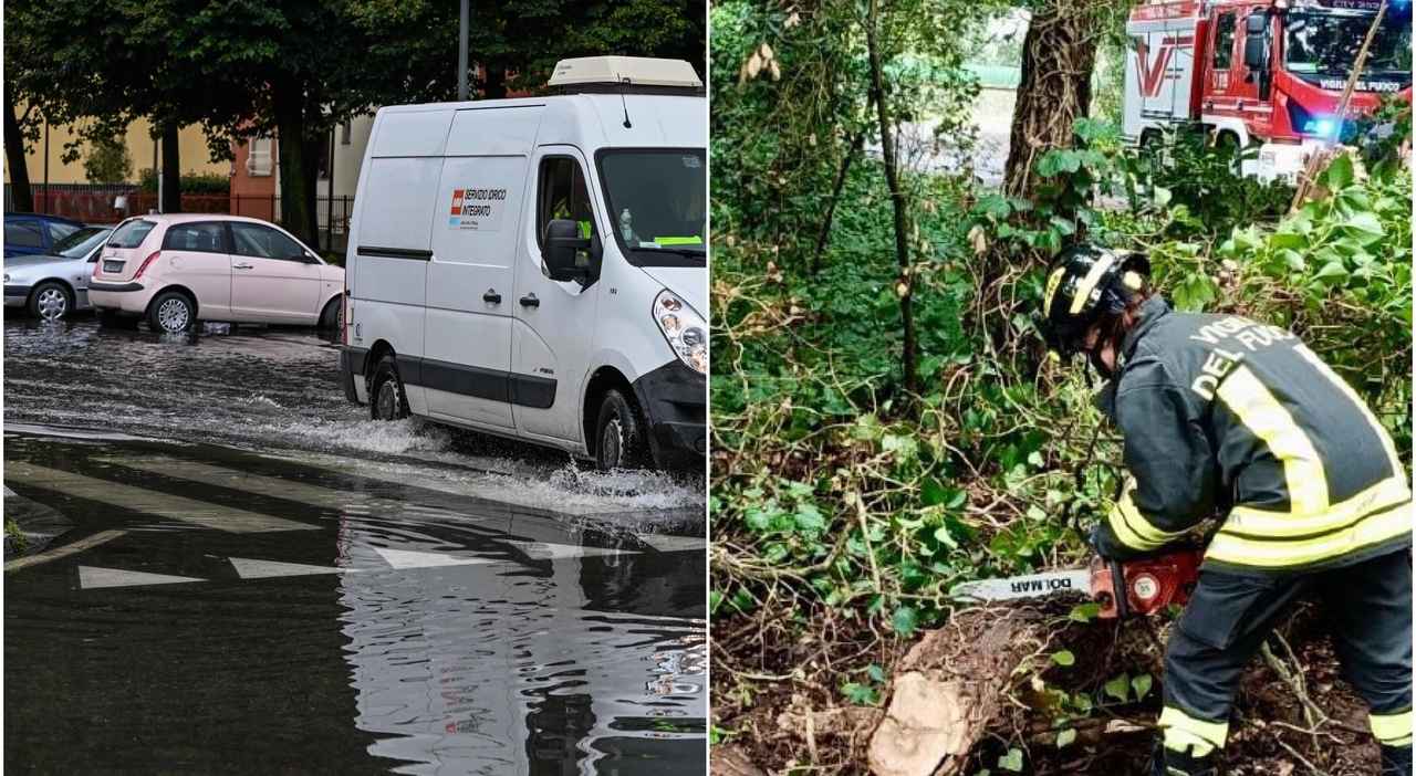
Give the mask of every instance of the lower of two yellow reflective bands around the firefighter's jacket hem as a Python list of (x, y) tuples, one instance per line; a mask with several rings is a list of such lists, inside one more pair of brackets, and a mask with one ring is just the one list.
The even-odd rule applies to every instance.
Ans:
[(1219, 531), (1205, 551), (1206, 561), (1256, 568), (1287, 568), (1341, 558), (1412, 531), (1410, 508), (1389, 508), (1358, 524), (1311, 540), (1249, 540)]

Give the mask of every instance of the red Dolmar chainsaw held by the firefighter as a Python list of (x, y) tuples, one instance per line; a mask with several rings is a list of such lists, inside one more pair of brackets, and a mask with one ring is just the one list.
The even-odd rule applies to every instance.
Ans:
[(1136, 561), (1097, 558), (1082, 569), (961, 582), (950, 595), (959, 600), (1017, 600), (1085, 593), (1102, 606), (1097, 615), (1102, 619), (1151, 615), (1171, 603), (1189, 603), (1202, 559), (1199, 549), (1178, 549)]

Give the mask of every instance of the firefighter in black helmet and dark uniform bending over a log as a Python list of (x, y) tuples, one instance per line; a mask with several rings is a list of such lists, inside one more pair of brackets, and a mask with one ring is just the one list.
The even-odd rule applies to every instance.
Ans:
[(1164, 709), (1148, 773), (1216, 775), (1249, 660), (1304, 593), (1332, 624), (1368, 704), (1382, 775), (1412, 773), (1412, 511), (1391, 438), (1291, 333), (1171, 312), (1150, 262), (1065, 249), (1044, 290), (1049, 348), (1086, 354), (1130, 474), (1092, 544), (1106, 559), (1218, 530), (1165, 644)]

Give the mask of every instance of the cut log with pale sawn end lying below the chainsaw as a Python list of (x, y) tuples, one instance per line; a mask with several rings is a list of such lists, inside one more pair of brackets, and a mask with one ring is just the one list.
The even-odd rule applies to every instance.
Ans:
[(867, 753), (875, 776), (957, 776), (1004, 711), (1017, 668), (1046, 643), (1035, 610), (973, 609), (925, 637), (895, 670)]

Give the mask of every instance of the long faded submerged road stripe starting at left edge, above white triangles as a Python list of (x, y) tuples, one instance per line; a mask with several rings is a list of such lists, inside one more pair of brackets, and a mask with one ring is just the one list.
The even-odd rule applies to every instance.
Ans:
[(85, 477), (72, 472), (45, 469), (33, 463), (6, 463), (4, 476), (7, 480), (21, 481), (28, 486), (54, 490), (67, 496), (115, 504), (129, 510), (147, 513), (157, 517), (194, 523), (207, 528), (229, 531), (232, 534), (259, 534), (266, 531), (313, 531), (316, 525), (280, 520), (245, 510), (235, 510), (218, 504), (169, 496), (142, 487), (110, 483), (98, 477)]

